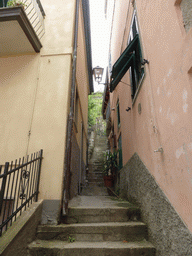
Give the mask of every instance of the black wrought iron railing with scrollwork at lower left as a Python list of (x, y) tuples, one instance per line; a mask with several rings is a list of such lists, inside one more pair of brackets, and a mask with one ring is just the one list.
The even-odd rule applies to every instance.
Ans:
[(0, 166), (0, 236), (38, 200), (43, 150)]

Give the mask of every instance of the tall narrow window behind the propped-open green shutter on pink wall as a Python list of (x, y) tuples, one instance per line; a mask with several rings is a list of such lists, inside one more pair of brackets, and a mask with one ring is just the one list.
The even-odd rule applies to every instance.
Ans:
[(136, 93), (141, 84), (141, 80), (144, 76), (144, 67), (142, 65), (143, 58), (142, 58), (141, 46), (140, 46), (140, 40), (139, 40), (138, 21), (137, 21), (136, 11), (134, 11), (132, 22), (131, 22), (129, 41), (128, 41), (129, 45), (136, 37), (138, 37), (138, 42), (137, 42), (135, 49), (132, 53), (135, 56), (134, 64), (131, 65), (131, 67), (129, 69), (130, 77), (131, 77), (131, 85), (132, 85), (132, 91), (131, 91), (132, 99), (135, 98)]

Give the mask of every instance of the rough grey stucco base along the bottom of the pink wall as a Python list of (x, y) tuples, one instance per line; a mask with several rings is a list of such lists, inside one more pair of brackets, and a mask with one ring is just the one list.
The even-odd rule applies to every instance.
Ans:
[(140, 206), (156, 256), (192, 255), (192, 234), (137, 153), (120, 171), (120, 191)]

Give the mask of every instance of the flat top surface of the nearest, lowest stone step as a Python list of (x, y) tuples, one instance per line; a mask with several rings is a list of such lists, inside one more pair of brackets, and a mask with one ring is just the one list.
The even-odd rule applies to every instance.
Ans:
[(155, 249), (155, 247), (148, 241), (143, 240), (139, 242), (127, 242), (127, 241), (119, 241), (119, 242), (73, 242), (69, 243), (67, 241), (46, 241), (46, 240), (35, 240), (29, 246), (32, 248), (56, 248), (56, 249), (65, 249), (65, 248), (106, 248), (106, 249), (119, 249), (119, 248), (151, 248)]

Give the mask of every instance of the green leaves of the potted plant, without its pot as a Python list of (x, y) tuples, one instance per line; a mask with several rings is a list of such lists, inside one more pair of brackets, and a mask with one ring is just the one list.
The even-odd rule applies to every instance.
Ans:
[(109, 176), (114, 175), (118, 170), (117, 164), (118, 151), (106, 151), (104, 154), (104, 162), (103, 162), (103, 175)]

